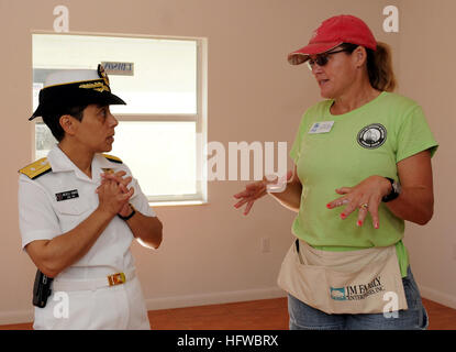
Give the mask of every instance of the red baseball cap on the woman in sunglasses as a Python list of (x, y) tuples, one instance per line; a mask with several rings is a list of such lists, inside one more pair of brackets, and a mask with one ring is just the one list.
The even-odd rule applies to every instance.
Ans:
[(372, 51), (377, 48), (377, 41), (363, 20), (341, 14), (323, 21), (307, 46), (288, 54), (288, 62), (291, 65), (305, 63), (309, 55), (327, 52), (342, 43), (358, 44)]

